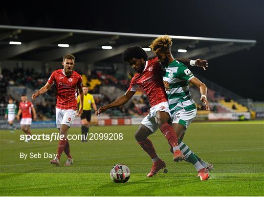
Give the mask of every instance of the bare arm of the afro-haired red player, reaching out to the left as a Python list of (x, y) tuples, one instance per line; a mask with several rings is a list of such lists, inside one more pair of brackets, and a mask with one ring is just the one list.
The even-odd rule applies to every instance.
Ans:
[(126, 104), (130, 98), (132, 98), (132, 96), (135, 94), (136, 92), (133, 91), (127, 91), (124, 95), (122, 95), (121, 97), (117, 98), (116, 100), (114, 100), (113, 102), (111, 102), (108, 105), (104, 105), (99, 107), (98, 111), (96, 112), (96, 116), (100, 116), (101, 113), (105, 112), (106, 110), (113, 108), (113, 107), (119, 107), (122, 106), (124, 104)]

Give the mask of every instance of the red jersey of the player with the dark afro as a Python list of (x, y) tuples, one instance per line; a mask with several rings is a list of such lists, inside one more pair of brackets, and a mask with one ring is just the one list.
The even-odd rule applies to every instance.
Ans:
[(146, 61), (143, 72), (134, 75), (128, 90), (136, 92), (139, 86), (143, 88), (149, 97), (151, 107), (168, 101), (162, 81), (162, 70), (157, 57)]

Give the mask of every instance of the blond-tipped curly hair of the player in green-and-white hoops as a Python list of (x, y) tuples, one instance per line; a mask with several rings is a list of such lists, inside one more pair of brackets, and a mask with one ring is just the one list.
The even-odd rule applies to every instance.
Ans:
[(154, 39), (149, 47), (154, 52), (154, 54), (157, 55), (159, 53), (169, 50), (171, 45), (172, 45), (172, 39), (167, 35), (165, 35)]

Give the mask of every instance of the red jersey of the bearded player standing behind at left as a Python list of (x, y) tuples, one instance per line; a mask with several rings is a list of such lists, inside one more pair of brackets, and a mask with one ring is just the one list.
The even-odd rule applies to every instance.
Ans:
[(83, 86), (81, 75), (73, 71), (71, 75), (66, 76), (63, 69), (58, 69), (51, 74), (48, 83), (56, 83), (57, 108), (77, 109), (77, 88), (82, 88)]

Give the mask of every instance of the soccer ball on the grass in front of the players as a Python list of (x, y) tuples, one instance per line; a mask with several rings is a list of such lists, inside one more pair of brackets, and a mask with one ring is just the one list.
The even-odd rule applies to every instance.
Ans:
[(125, 183), (130, 178), (130, 169), (124, 164), (116, 164), (110, 171), (110, 177), (116, 183)]

